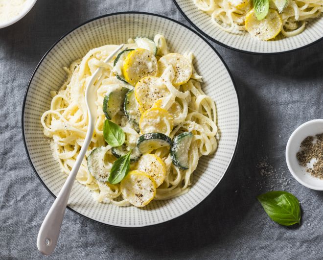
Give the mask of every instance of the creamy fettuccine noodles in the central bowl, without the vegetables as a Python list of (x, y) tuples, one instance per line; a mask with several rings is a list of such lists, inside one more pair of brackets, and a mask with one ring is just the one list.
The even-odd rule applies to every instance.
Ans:
[[(156, 35), (154, 42), (157, 46), (157, 59), (170, 53), (162, 35)], [(111, 153), (111, 146), (107, 145), (103, 138), (103, 124), (106, 119), (102, 111), (103, 99), (115, 88), (134, 88), (116, 78), (116, 73), (122, 70), (120, 64), (114, 69), (114, 61), (108, 64), (103, 63), (103, 60), (116, 47), (116, 45), (106, 45), (91, 49), (82, 59), (74, 61), (69, 68), (64, 68), (67, 72), (66, 82), (58, 91), (50, 92), (52, 96), (50, 109), (41, 117), (41, 123), (45, 136), (51, 139), (53, 156), (66, 174), (69, 174), (75, 163), (88, 128), (85, 86), (92, 73), (100, 66), (104, 68), (104, 71), (95, 83), (98, 87), (96, 99), (98, 117), (86, 157), (94, 148), (103, 146), (107, 150), (108, 165), (111, 166), (116, 160)], [(134, 40), (129, 39), (125, 48), (136, 49), (138, 46)], [(171, 66), (166, 68), (160, 77), (165, 84), (163, 87), (167, 87), (168, 91), (165, 92), (167, 95), (163, 97), (162, 102), (159, 102), (159, 107), (174, 116), (173, 125), (166, 123), (167, 129), (169, 128), (168, 136), (171, 139), (182, 132), (193, 134), (188, 151), (189, 166), (188, 169), (182, 170), (173, 165), (169, 147), (161, 147), (153, 151), (153, 154), (161, 159), (166, 171), (164, 180), (157, 188), (154, 197), (157, 200), (173, 198), (187, 192), (192, 184), (192, 173), (197, 167), (199, 158), (202, 155), (214, 153), (217, 148), (215, 103), (202, 91), (202, 76), (197, 74), (192, 65), (193, 54), (184, 53), (183, 57), (185, 57), (184, 61), (186, 63), (188, 61), (192, 67), (192, 75), (184, 84), (174, 86), (172, 84), (174, 70)], [(152, 107), (153, 105), (151, 104)], [(124, 119), (120, 118), (120, 113), (117, 113), (111, 120), (121, 124), (126, 134), (126, 145), (135, 146), (141, 133), (135, 131), (133, 124), (127, 120), (122, 121)], [(153, 123), (158, 124), (164, 118), (154, 120), (156, 122)], [(137, 169), (136, 163), (131, 164), (130, 170), (135, 169)], [(121, 193), (120, 184), (104, 183), (90, 174), (87, 158), (83, 159), (76, 180), (90, 189), (95, 200), (99, 202), (113, 203), (117, 206), (129, 205), (129, 201)]]

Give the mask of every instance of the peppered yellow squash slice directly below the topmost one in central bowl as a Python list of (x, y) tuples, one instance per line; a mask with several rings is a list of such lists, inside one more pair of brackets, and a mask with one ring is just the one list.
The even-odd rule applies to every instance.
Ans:
[(159, 77), (144, 77), (137, 82), (135, 87), (135, 96), (141, 113), (151, 108), (158, 99), (165, 95), (169, 95), (169, 90)]

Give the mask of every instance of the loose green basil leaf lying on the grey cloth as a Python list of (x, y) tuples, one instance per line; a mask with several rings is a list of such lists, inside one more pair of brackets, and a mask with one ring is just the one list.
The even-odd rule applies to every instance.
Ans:
[(300, 224), (300, 202), (286, 191), (269, 191), (257, 196), (268, 216), (280, 225)]

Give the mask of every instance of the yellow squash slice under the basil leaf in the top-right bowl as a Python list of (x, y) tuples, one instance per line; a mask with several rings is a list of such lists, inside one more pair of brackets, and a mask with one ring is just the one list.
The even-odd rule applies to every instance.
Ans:
[(254, 37), (268, 41), (274, 39), (281, 30), (282, 22), (278, 12), (269, 9), (266, 18), (258, 21), (254, 9), (252, 9), (245, 18), (246, 30)]

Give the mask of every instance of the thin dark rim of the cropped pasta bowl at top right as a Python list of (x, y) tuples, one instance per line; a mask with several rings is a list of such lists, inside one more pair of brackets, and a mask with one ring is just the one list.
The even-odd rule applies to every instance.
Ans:
[[(189, 24), (191, 24), (194, 29), (196, 29), (199, 33), (201, 33), (204, 37), (207, 37), (209, 40), (211, 40), (212, 42), (218, 44), (218, 45), (221, 45), (223, 47), (226, 47), (228, 49), (232, 49), (232, 50), (235, 50), (237, 52), (241, 52), (241, 53), (247, 53), (247, 54), (252, 54), (252, 55), (277, 55), (277, 54), (284, 54), (284, 53), (289, 53), (289, 52), (292, 52), (292, 51), (296, 51), (296, 50), (300, 50), (300, 49), (303, 49), (303, 48), (306, 48), (306, 47), (310, 47), (311, 45), (314, 45), (318, 42), (320, 42), (322, 39), (323, 39), (323, 36), (320, 38), (320, 39), (317, 39), (316, 41), (312, 42), (312, 43), (309, 43), (307, 45), (304, 45), (304, 46), (301, 46), (301, 47), (298, 47), (298, 48), (295, 48), (295, 49), (290, 49), (290, 50), (284, 50), (284, 51), (279, 51), (279, 52), (255, 52), (255, 51), (249, 51), (249, 50), (243, 50), (243, 49), (238, 49), (238, 48), (235, 48), (235, 47), (231, 47), (229, 45), (226, 45), (218, 40), (215, 40), (213, 37), (209, 36), (207, 33), (205, 33), (202, 29), (200, 29), (196, 24), (193, 23), (193, 21), (191, 21), (187, 15), (185, 14), (185, 12), (182, 10), (182, 8), (179, 6), (179, 4), (177, 3), (176, 0), (173, 0), (174, 4), (176, 5), (177, 9), (180, 11), (180, 13), (185, 17), (185, 19), (187, 20), (187, 22)], [(322, 18), (323, 19), (323, 18)]]

